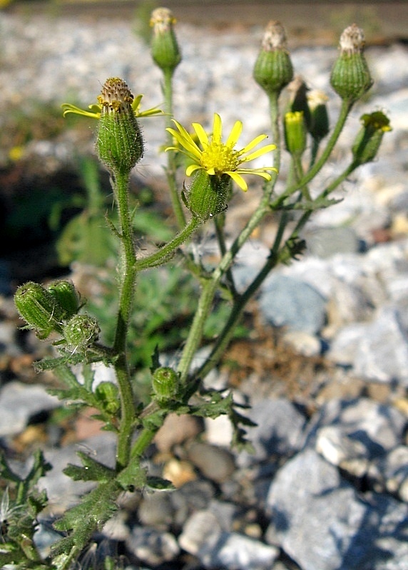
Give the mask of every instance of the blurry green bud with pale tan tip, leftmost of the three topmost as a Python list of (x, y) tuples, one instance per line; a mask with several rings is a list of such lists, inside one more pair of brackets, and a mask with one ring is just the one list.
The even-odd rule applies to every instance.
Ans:
[(181, 61), (173, 25), (175, 18), (168, 8), (157, 8), (151, 15), (153, 61), (162, 71), (173, 72)]

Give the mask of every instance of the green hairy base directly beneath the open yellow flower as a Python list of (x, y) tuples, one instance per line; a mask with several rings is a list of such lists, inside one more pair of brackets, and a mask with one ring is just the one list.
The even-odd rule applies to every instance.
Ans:
[(225, 211), (231, 192), (230, 181), (228, 175), (208, 175), (205, 170), (196, 170), (187, 195), (183, 195), (185, 206), (206, 222)]

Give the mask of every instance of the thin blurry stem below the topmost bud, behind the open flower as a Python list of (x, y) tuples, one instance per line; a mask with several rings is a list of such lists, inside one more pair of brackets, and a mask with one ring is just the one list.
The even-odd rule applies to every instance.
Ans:
[[(166, 69), (163, 71), (163, 94), (164, 94), (164, 108), (165, 108), (165, 127), (173, 127), (171, 122), (173, 118), (173, 70)], [(166, 146), (173, 145), (173, 137), (168, 131), (166, 133)], [(185, 227), (185, 215), (183, 205), (181, 204), (180, 195), (178, 194), (178, 185), (175, 178), (177, 166), (175, 164), (175, 153), (167, 152), (167, 181), (170, 190), (170, 199), (173, 206), (173, 212), (179, 228)]]

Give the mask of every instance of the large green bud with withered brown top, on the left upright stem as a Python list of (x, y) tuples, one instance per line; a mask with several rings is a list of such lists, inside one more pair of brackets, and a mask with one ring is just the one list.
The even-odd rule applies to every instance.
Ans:
[(133, 95), (117, 77), (107, 79), (101, 93), (96, 150), (108, 170), (127, 175), (143, 156), (143, 138), (132, 108)]

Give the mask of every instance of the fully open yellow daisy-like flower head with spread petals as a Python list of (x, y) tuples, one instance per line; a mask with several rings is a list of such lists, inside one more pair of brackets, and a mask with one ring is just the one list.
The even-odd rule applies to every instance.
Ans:
[[(193, 129), (197, 135), (200, 146), (193, 140), (192, 135), (189, 135), (187, 130), (180, 125), (176, 120), (173, 123), (178, 130), (168, 128), (168, 132), (173, 135), (175, 140), (178, 142), (180, 147), (173, 146), (168, 147), (165, 150), (175, 150), (178, 152), (183, 152), (191, 160), (193, 164), (187, 167), (185, 174), (190, 176), (196, 170), (205, 170), (210, 176), (230, 176), (243, 190), (246, 192), (248, 190), (248, 185), (243, 179), (242, 175), (255, 174), (261, 176), (265, 180), (271, 180), (271, 175), (268, 171), (277, 172), (275, 167), (262, 167), (262, 168), (242, 168), (245, 162), (249, 162), (254, 158), (265, 155), (266, 152), (270, 150), (275, 150), (276, 145), (266, 145), (265, 147), (259, 148), (254, 152), (255, 146), (257, 146), (262, 140), (267, 138), (267, 135), (260, 135), (246, 145), (241, 150), (234, 150), (234, 147), (240, 138), (240, 134), (243, 130), (243, 123), (240, 120), (236, 121), (233, 126), (233, 130), (227, 139), (227, 142), (222, 142), (221, 137), (223, 133), (223, 125), (221, 123), (220, 115), (214, 113), (214, 123), (213, 123), (213, 135), (211, 140), (209, 140), (207, 133), (203, 129), (203, 126), (199, 123), (193, 123)], [(249, 153), (249, 154), (248, 154)]]

